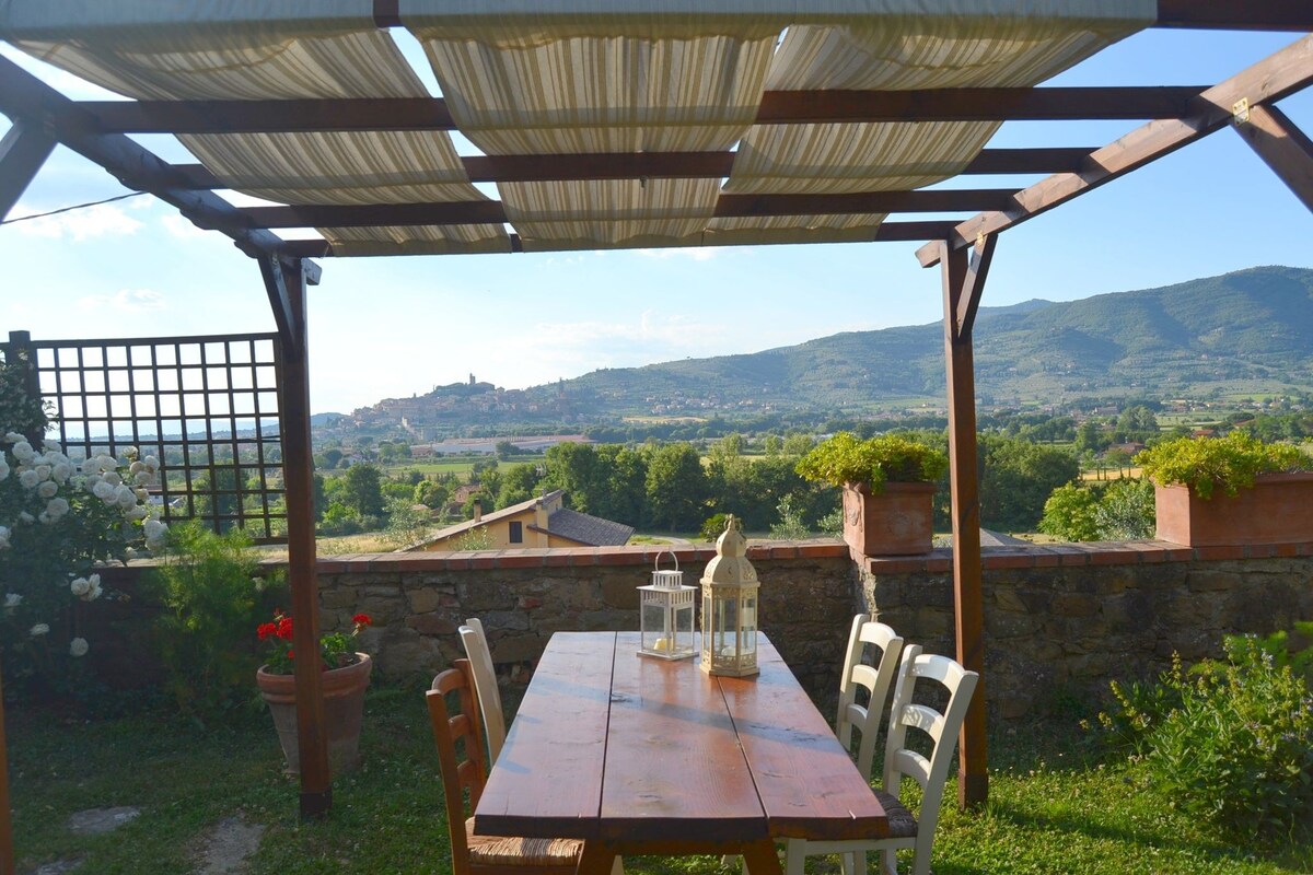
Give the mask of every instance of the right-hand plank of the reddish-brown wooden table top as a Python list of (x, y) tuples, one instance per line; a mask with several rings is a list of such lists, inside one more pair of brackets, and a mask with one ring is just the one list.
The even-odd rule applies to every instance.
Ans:
[(775, 838), (878, 838), (888, 819), (789, 666), (758, 638), (755, 678), (720, 686)]

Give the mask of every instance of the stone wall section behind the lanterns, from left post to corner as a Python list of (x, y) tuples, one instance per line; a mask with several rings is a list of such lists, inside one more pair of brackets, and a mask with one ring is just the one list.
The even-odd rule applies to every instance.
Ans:
[[(369, 614), (366, 649), (389, 677), (433, 674), (463, 655), (457, 628), (478, 617), (504, 680), (524, 669), (561, 630), (637, 630), (637, 586), (651, 582), (658, 548), (584, 547), (487, 552), (370, 554), (320, 559), (326, 628)], [(687, 585), (697, 585), (710, 546), (678, 547)], [(818, 695), (838, 686), (838, 660), (857, 606), (848, 548), (838, 542), (754, 543), (762, 581), (760, 624), (798, 680)], [(668, 555), (662, 568), (672, 568)], [(832, 693), (831, 693), (832, 695)]]

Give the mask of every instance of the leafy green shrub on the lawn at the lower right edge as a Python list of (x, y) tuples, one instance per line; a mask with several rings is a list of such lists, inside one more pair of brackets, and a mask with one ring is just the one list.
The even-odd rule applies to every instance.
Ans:
[(1313, 816), (1313, 695), (1264, 644), (1229, 636), (1225, 661), (1178, 660), (1157, 689), (1115, 687), (1120, 711), (1100, 715), (1176, 804), (1242, 832)]

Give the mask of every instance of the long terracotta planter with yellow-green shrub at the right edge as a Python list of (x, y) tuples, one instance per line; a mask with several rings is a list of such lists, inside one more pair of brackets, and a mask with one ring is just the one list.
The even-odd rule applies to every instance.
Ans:
[(1187, 547), (1313, 540), (1313, 459), (1241, 432), (1175, 438), (1134, 458), (1154, 483), (1157, 537)]

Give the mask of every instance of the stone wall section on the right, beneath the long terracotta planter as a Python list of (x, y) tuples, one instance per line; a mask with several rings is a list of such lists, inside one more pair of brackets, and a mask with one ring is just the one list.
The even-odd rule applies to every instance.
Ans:
[[(1111, 678), (1155, 676), (1174, 652), (1218, 656), (1222, 635), (1313, 619), (1313, 543), (1180, 547), (1119, 542), (997, 547), (983, 556), (985, 668), (995, 719)], [(955, 653), (951, 554), (865, 558), (863, 600), (907, 640)]]

